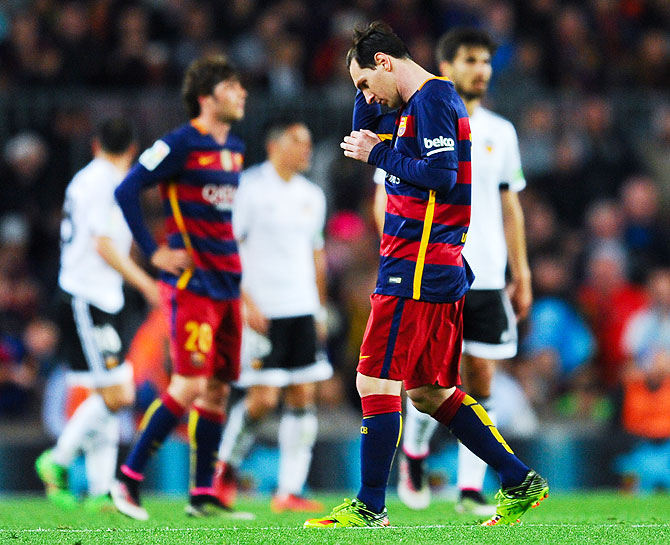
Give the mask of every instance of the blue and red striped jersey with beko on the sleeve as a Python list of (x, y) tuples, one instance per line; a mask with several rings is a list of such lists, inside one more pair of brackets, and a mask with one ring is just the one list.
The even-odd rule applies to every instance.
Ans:
[[(354, 109), (355, 129), (384, 131), (388, 114), (361, 93)], [(390, 145), (377, 144), (368, 162), (387, 173), (375, 293), (457, 301), (474, 274), (461, 255), (470, 224), (470, 124), (453, 84), (426, 81), (397, 112)]]

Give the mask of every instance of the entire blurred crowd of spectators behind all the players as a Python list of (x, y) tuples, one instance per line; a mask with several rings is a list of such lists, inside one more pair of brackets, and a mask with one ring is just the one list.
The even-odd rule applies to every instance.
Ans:
[(328, 348), (337, 370), (321, 402), (358, 407), (353, 376), (379, 242), (371, 168), (344, 159), (337, 144), (354, 95), (344, 64), (352, 29), (377, 18), (431, 70), (436, 39), (453, 26), (485, 28), (500, 44), (487, 105), (518, 131), (535, 296), (503, 376), (540, 421), (670, 438), (666, 0), (4, 0), (0, 418), (34, 417), (57, 364), (48, 310), (60, 208), (89, 158), (101, 105), (141, 103), (135, 120), (149, 145), (162, 120), (185, 120), (184, 69), (212, 52), (236, 62), (251, 93), (238, 131), (252, 136), (247, 164), (260, 159), (253, 135), (263, 115), (277, 105), (309, 114), (310, 177), (329, 201)]

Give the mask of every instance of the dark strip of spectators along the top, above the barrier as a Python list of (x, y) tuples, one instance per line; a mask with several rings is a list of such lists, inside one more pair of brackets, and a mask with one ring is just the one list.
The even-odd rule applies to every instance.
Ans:
[(228, 52), (277, 95), (347, 78), (352, 27), (383, 18), (420, 63), (454, 25), (485, 26), (495, 71), (524, 90), (599, 92), (670, 86), (663, 0), (7, 0), (0, 8), (0, 87), (178, 84), (195, 57)]

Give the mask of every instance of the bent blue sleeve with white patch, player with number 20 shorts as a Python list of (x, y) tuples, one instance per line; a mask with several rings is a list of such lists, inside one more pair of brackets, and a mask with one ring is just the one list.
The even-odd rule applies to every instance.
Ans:
[(187, 147), (174, 133), (156, 140), (140, 155), (137, 164), (114, 192), (133, 237), (147, 257), (153, 255), (158, 245), (144, 221), (140, 194), (144, 189), (170, 180), (181, 172), (187, 153)]

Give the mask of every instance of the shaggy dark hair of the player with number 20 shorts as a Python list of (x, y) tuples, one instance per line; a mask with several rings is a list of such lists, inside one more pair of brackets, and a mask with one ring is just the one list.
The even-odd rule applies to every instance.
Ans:
[(200, 115), (198, 97), (211, 95), (222, 81), (239, 79), (239, 73), (225, 55), (193, 61), (184, 76), (181, 95), (191, 119)]

